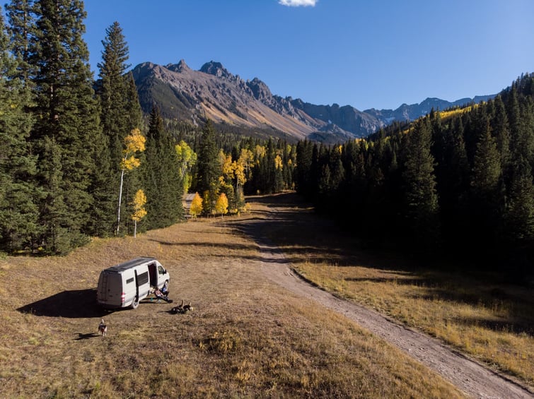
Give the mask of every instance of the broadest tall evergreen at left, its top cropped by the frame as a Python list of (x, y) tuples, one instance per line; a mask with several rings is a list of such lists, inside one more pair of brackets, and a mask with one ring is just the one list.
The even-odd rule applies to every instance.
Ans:
[(41, 237), (47, 251), (64, 253), (86, 242), (93, 218), (88, 192), (95, 174), (100, 126), (80, 0), (41, 0), (29, 62), (35, 69), (37, 115), (31, 134), (40, 157)]

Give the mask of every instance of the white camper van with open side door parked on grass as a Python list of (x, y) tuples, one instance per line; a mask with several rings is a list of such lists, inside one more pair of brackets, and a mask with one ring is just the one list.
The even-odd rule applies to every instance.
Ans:
[(152, 287), (161, 288), (169, 281), (169, 273), (156, 258), (139, 257), (100, 272), (96, 297), (108, 309), (132, 306), (146, 298)]

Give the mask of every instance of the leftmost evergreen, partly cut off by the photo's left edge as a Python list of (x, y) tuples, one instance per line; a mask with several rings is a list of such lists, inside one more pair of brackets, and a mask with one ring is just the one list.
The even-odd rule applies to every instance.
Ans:
[(10, 52), (0, 9), (0, 250), (25, 249), (37, 231), (35, 157), (28, 136), (30, 92)]

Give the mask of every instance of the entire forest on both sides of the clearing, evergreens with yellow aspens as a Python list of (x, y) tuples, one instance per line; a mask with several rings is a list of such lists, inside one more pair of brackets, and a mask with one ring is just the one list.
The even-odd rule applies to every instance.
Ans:
[(493, 100), (323, 145), (143, 114), (127, 41), (103, 32), (93, 76), (81, 0), (0, 13), (0, 251), (66, 254), (188, 215), (296, 190), (347, 234), (417, 257), (533, 270), (534, 76)]

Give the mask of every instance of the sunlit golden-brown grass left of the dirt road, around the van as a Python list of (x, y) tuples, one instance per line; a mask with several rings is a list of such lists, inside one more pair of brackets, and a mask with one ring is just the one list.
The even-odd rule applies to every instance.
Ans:
[[(356, 324), (266, 280), (257, 247), (234, 227), (267, 218), (265, 205), (255, 209), (95, 239), (62, 258), (1, 259), (0, 396), (461, 397)], [(100, 270), (140, 255), (168, 268), (170, 297), (191, 301), (192, 312), (95, 306)], [(105, 338), (96, 335), (102, 317)]]

